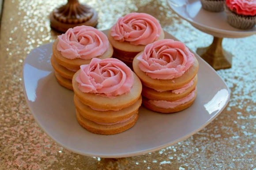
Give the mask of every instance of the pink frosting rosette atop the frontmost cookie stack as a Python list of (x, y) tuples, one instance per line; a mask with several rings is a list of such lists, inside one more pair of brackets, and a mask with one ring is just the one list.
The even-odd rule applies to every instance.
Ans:
[(118, 59), (93, 58), (90, 64), (80, 66), (76, 77), (82, 92), (117, 96), (130, 91), (133, 85), (132, 70)]

